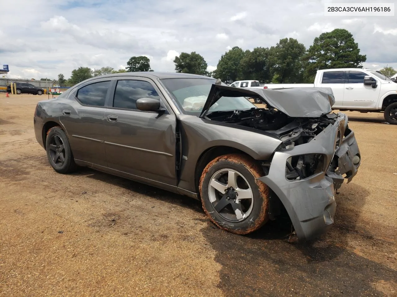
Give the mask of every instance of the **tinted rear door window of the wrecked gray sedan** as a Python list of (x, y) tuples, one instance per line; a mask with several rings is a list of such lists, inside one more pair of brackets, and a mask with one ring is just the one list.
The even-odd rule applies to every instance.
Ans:
[(105, 106), (106, 93), (110, 86), (108, 82), (96, 82), (85, 86), (77, 92), (77, 99), (85, 105)]

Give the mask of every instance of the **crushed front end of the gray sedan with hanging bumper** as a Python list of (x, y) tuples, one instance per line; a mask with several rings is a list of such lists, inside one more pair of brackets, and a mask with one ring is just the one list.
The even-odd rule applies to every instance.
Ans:
[(269, 131), (283, 143), (259, 180), (281, 200), (298, 238), (310, 240), (333, 224), (335, 190), (353, 179), (361, 157), (345, 114), (304, 120)]

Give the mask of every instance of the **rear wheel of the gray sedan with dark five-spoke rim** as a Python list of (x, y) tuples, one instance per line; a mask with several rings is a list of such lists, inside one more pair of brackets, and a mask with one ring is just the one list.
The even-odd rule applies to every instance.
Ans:
[(46, 151), (48, 161), (58, 173), (71, 173), (77, 168), (66, 133), (59, 126), (47, 132)]

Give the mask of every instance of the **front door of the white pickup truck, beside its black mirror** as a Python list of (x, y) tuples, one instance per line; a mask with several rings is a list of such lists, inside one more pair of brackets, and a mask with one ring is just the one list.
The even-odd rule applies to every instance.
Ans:
[(367, 75), (368, 74), (360, 70), (349, 71), (345, 81), (343, 107), (376, 108), (376, 103), (378, 102), (380, 94), (380, 85), (378, 85), (377, 88), (364, 85), (364, 76)]

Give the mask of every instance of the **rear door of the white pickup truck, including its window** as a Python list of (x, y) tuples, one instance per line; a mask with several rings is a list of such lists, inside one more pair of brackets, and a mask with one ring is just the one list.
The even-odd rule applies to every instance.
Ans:
[(343, 94), (345, 92), (345, 70), (324, 71), (318, 87), (331, 88), (335, 97), (333, 108), (343, 106)]

